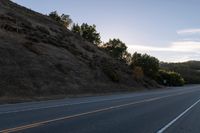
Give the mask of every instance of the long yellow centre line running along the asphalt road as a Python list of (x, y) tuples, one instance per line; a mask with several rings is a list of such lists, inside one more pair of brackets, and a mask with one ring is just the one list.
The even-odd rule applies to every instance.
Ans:
[(107, 108), (103, 108), (103, 109), (98, 109), (98, 110), (88, 111), (88, 112), (79, 113), (79, 114), (75, 114), (75, 115), (70, 115), (70, 116), (60, 117), (60, 118), (56, 118), (56, 119), (36, 122), (36, 123), (32, 123), (32, 124), (27, 124), (27, 125), (15, 127), (15, 128), (8, 128), (8, 129), (1, 130), (0, 133), (18, 132), (18, 131), (22, 131), (22, 130), (26, 130), (26, 129), (30, 129), (30, 128), (39, 127), (39, 126), (42, 126), (42, 125), (45, 125), (45, 124), (49, 124), (49, 123), (52, 123), (52, 122), (72, 119), (72, 118), (81, 117), (81, 116), (85, 116), (85, 115), (89, 115), (89, 114), (95, 114), (95, 113), (99, 113), (99, 112), (105, 112), (105, 111), (118, 109), (118, 108), (121, 108), (121, 107), (130, 106), (130, 105), (136, 105), (136, 104), (140, 104), (140, 103), (152, 102), (152, 101), (156, 101), (156, 100), (159, 100), (159, 99), (168, 98), (168, 97), (172, 97), (172, 96), (183, 95), (183, 94), (185, 94), (185, 93), (181, 92), (181, 93), (177, 93), (177, 94), (173, 94), (173, 95), (160, 96), (160, 97), (155, 97), (155, 98), (144, 99), (144, 100), (141, 100), (141, 101), (136, 101), (136, 102), (126, 103), (126, 104), (111, 106), (111, 107), (107, 107)]

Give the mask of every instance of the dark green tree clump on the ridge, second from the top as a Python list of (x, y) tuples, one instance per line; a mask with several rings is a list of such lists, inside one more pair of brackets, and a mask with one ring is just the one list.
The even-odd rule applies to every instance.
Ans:
[(100, 33), (97, 33), (96, 25), (88, 25), (83, 23), (81, 26), (74, 24), (71, 29), (72, 32), (80, 35), (88, 42), (99, 45), (101, 43)]

